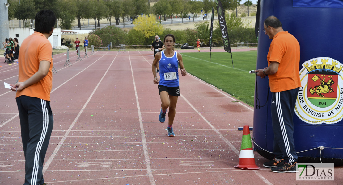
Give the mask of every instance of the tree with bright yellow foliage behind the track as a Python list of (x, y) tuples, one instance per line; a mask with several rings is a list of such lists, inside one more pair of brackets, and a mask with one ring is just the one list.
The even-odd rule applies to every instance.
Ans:
[(141, 32), (145, 38), (160, 35), (164, 30), (164, 27), (156, 22), (155, 16), (153, 15), (139, 16), (133, 21), (133, 24), (135, 25), (134, 29)]

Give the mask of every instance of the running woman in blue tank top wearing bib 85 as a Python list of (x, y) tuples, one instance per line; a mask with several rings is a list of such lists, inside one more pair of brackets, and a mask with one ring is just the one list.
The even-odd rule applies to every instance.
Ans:
[[(167, 108), (168, 112), (168, 136), (175, 136), (173, 131), (173, 123), (175, 118), (175, 108), (177, 98), (180, 96), (179, 88), (179, 66), (181, 69), (181, 75), (187, 75), (187, 71), (182, 62), (182, 56), (180, 53), (174, 51), (175, 37), (174, 35), (167, 34), (164, 37), (165, 50), (158, 52), (155, 55), (152, 63), (152, 73), (154, 75), (154, 84), (158, 84), (159, 97), (161, 98), (161, 112), (158, 116), (158, 120), (164, 123), (166, 120)], [(160, 73), (159, 78), (156, 75), (155, 67), (159, 63)]]

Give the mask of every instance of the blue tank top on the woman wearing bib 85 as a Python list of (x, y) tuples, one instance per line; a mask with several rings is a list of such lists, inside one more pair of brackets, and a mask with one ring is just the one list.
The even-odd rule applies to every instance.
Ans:
[[(177, 59), (177, 52), (174, 51), (172, 57), (166, 57), (164, 51), (161, 52), (161, 59), (159, 62), (159, 85), (166, 87), (179, 87), (179, 60)], [(165, 80), (164, 73), (176, 72), (176, 79)]]

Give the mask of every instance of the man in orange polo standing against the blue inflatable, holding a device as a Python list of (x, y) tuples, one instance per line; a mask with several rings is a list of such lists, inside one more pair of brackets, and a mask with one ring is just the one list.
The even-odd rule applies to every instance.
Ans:
[(293, 115), (300, 84), (300, 47), (297, 39), (284, 31), (275, 16), (264, 20), (263, 31), (272, 39), (267, 55), (268, 67), (255, 70), (258, 76), (268, 75), (272, 92), (271, 115), (275, 158), (263, 163), (272, 172), (297, 172), (298, 156), (294, 147)]

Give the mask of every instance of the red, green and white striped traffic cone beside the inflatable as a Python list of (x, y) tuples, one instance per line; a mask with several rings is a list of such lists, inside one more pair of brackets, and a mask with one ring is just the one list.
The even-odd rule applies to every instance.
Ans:
[(254, 153), (252, 151), (251, 137), (249, 132), (249, 126), (244, 126), (242, 144), (240, 146), (239, 162), (235, 168), (256, 170), (260, 167), (256, 166)]

